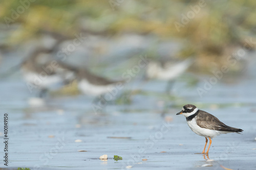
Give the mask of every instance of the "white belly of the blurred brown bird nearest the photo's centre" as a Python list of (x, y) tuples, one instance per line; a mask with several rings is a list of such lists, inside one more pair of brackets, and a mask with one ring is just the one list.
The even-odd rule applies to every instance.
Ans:
[(110, 91), (114, 84), (110, 85), (94, 85), (89, 83), (87, 80), (83, 79), (78, 83), (78, 88), (88, 95), (100, 95)]

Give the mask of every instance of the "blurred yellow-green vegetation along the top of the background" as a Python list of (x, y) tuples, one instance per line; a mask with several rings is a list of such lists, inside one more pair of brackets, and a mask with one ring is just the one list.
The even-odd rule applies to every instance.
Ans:
[[(5, 27), (7, 17), (12, 18), (21, 2), (0, 2), (0, 18)], [(179, 57), (196, 56), (197, 65), (225, 63), (226, 58), (245, 39), (256, 31), (256, 2), (205, 1), (205, 6), (178, 31), (175, 22), (187, 16), (191, 6), (200, 1), (154, 0), (45, 0), (29, 3), (24, 13), (10, 23), (14, 31), (4, 40), (5, 45), (18, 45), (44, 32), (73, 37), (86, 32), (101, 35), (120, 35), (125, 32), (154, 34), (161, 39), (172, 39), (183, 44)], [(113, 4), (114, 3), (114, 4)], [(116, 5), (116, 6), (114, 6)], [(114, 6), (114, 7), (113, 7)], [(4, 26), (1, 27), (4, 27)], [(245, 45), (248, 47), (248, 44)]]

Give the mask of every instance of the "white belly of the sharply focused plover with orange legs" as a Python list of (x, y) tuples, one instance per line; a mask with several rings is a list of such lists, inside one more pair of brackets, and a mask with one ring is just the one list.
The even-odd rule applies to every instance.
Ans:
[(230, 133), (230, 132), (225, 132), (225, 131), (216, 131), (216, 130), (201, 128), (196, 123), (196, 117), (190, 121), (187, 121), (187, 125), (193, 132), (195, 132), (196, 134), (198, 134), (200, 136), (204, 136), (204, 137), (214, 138), (220, 134)]

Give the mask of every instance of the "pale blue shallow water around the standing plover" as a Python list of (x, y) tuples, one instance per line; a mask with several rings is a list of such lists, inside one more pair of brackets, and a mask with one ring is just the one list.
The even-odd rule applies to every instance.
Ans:
[[(186, 86), (184, 79), (188, 76), (175, 83), (173, 101), (163, 97), (165, 82), (151, 81), (142, 90), (156, 92), (157, 96), (137, 94), (131, 105), (112, 103), (97, 114), (91, 107), (92, 98), (82, 95), (48, 96), (44, 105), (30, 106), (33, 94), (19, 76), (1, 81), (1, 113), (9, 113), (8, 167), (125, 169), (132, 165), (132, 169), (223, 169), (223, 165), (256, 169), (255, 74), (234, 84), (218, 82), (203, 98), (195, 87)], [(198, 87), (203, 83), (200, 80)], [(165, 103), (169, 109), (163, 116)], [(204, 155), (195, 154), (202, 152), (205, 138), (189, 129), (184, 116), (176, 115), (187, 103), (197, 104), (225, 124), (243, 129), (243, 134), (212, 139), (208, 156), (214, 161), (206, 161)], [(3, 128), (0, 132), (3, 137)], [(75, 142), (77, 139), (81, 142)], [(0, 147), (3, 150), (3, 144)], [(104, 154), (109, 159), (99, 160)], [(123, 160), (113, 160), (114, 155)], [(205, 164), (209, 166), (201, 167)], [(0, 167), (5, 167), (3, 162)]]

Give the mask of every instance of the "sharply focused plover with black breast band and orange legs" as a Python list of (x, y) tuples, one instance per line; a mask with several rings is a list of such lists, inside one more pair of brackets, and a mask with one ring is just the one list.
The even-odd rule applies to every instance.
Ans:
[(211, 138), (214, 138), (220, 134), (232, 133), (232, 132), (242, 132), (242, 129), (232, 128), (230, 126), (222, 123), (214, 115), (207, 113), (203, 110), (199, 110), (194, 105), (185, 105), (182, 110), (176, 115), (183, 114), (186, 117), (187, 125), (189, 128), (200, 136), (205, 137), (205, 146), (202, 154), (205, 154), (206, 144), (208, 142), (207, 138), (210, 140), (210, 144), (206, 154), (209, 153)]

